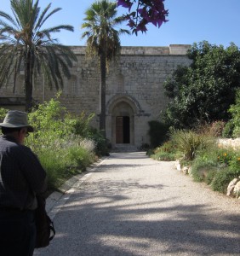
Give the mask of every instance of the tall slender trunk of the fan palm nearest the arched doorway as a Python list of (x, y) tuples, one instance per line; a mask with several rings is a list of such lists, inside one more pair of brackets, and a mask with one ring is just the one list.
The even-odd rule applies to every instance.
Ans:
[(106, 53), (100, 55), (100, 132), (106, 138)]

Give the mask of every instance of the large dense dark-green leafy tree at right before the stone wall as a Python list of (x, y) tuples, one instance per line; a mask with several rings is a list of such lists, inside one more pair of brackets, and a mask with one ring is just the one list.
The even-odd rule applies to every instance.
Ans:
[(172, 102), (163, 119), (176, 128), (226, 121), (240, 86), (239, 49), (203, 41), (191, 46), (188, 57), (190, 67), (178, 67), (164, 83)]

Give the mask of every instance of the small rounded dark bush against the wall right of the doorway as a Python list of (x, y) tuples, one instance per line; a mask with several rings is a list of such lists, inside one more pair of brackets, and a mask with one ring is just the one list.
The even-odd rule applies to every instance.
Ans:
[(149, 121), (148, 125), (150, 126), (148, 135), (150, 136), (151, 148), (158, 147), (168, 139), (168, 125), (156, 120)]

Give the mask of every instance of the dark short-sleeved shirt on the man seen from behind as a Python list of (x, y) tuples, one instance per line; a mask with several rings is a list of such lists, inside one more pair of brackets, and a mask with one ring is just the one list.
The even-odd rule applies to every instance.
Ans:
[(14, 137), (0, 137), (0, 207), (37, 208), (36, 194), (46, 190), (46, 172), (37, 155)]

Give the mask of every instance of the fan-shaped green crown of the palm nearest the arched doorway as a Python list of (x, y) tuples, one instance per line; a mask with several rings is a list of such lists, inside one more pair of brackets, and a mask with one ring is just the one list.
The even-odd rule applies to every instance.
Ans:
[(87, 38), (86, 54), (88, 56), (105, 55), (106, 61), (111, 61), (120, 54), (119, 35), (129, 34), (129, 30), (119, 29), (123, 17), (117, 17), (117, 3), (106, 0), (96, 1), (86, 10), (82, 24), (82, 38)]

